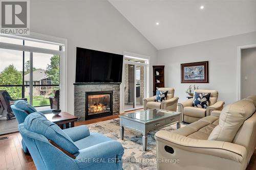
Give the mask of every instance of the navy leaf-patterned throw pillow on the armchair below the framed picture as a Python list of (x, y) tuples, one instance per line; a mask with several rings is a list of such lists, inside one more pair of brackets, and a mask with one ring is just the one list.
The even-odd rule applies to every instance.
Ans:
[(210, 93), (194, 93), (193, 105), (194, 107), (206, 109), (209, 106)]

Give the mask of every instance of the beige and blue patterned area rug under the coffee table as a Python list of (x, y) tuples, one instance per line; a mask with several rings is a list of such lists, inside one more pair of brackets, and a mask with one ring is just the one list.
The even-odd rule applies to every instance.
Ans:
[[(156, 141), (153, 131), (147, 136), (147, 151), (142, 150), (142, 134), (128, 128), (124, 128), (124, 139), (120, 139), (119, 118), (106, 120), (104, 122), (87, 125), (90, 132), (101, 133), (118, 142), (124, 148), (123, 169), (157, 169), (156, 164)], [(181, 123), (181, 127), (185, 125)], [(176, 124), (163, 128), (170, 131), (176, 129)]]

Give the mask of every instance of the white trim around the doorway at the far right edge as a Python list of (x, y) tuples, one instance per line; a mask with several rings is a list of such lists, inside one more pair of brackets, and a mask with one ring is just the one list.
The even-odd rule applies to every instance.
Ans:
[(250, 45), (242, 45), (238, 46), (237, 48), (237, 67), (238, 67), (238, 76), (237, 76), (237, 82), (238, 82), (238, 93), (237, 93), (237, 100), (241, 100), (241, 57), (242, 57), (242, 50), (247, 48), (254, 48), (256, 47), (256, 44), (250, 44)]

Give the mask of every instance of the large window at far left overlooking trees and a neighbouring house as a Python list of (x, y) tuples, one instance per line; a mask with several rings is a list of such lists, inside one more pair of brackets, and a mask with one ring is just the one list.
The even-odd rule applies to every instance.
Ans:
[(0, 90), (34, 107), (50, 106), (59, 90), (64, 45), (23, 37), (0, 36)]

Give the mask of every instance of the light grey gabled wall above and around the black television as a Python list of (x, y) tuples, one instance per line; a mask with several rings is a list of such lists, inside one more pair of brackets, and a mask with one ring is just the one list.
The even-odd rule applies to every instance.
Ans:
[(32, 32), (68, 39), (67, 111), (70, 113), (74, 112), (77, 46), (116, 54), (132, 52), (150, 56), (153, 62), (157, 56), (156, 48), (106, 0), (31, 0), (30, 16)]

